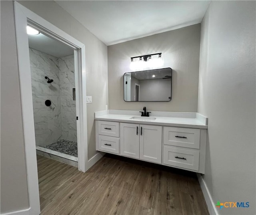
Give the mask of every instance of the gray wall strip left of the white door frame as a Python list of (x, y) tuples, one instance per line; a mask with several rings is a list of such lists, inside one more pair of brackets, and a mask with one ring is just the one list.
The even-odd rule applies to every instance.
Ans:
[(1, 213), (29, 207), (12, 1), (1, 1)]

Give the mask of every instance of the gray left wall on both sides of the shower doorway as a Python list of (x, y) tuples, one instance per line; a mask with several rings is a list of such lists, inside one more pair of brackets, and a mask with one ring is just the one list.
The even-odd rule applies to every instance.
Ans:
[[(94, 111), (104, 110), (108, 100), (107, 47), (54, 1), (20, 3), (86, 46), (90, 158), (96, 153)], [(1, 1), (1, 213), (29, 207), (16, 53), (13, 2)]]

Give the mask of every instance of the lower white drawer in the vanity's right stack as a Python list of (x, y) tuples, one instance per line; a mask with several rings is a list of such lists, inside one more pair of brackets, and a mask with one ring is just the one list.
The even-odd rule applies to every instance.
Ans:
[(199, 170), (199, 151), (164, 146), (164, 164)]

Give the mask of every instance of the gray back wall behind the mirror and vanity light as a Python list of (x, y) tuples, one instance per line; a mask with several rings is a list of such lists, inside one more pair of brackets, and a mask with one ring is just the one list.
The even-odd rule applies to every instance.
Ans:
[[(172, 71), (170, 102), (124, 102), (123, 75), (130, 72), (130, 58), (162, 52), (164, 66)], [(196, 112), (200, 24), (108, 46), (109, 109)], [(186, 86), (186, 87), (184, 87)], [(159, 105), (160, 104), (160, 105)]]

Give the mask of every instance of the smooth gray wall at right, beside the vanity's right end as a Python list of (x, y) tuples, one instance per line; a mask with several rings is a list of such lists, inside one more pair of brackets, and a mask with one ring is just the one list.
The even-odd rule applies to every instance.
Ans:
[(212, 1), (202, 22), (198, 111), (209, 120), (204, 181), (217, 201), (255, 214), (255, 1)]

